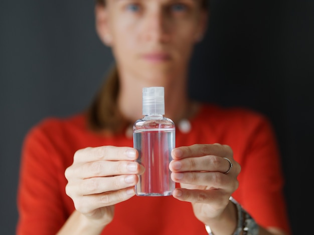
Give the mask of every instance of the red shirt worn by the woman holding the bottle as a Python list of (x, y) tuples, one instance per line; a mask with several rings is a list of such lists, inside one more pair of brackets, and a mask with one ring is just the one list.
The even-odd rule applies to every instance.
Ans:
[[(233, 197), (262, 226), (290, 234), (278, 147), (268, 120), (242, 108), (203, 105), (190, 132), (176, 130), (176, 146), (221, 143), (231, 146), (240, 163)], [(47, 118), (34, 126), (22, 150), (17, 234), (55, 234), (74, 210), (66, 195), (65, 169), (76, 150), (87, 146), (133, 146), (131, 137), (105, 137), (88, 130), (86, 118)], [(113, 221), (102, 234), (207, 234), (189, 202), (172, 196), (133, 196), (115, 206)]]

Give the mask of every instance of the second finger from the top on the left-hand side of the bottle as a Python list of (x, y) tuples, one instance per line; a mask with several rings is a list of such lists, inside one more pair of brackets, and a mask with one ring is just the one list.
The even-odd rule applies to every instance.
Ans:
[(106, 161), (98, 160), (92, 162), (82, 162), (67, 168), (65, 177), (91, 178), (99, 176), (120, 175), (120, 174), (140, 174), (143, 166), (135, 161)]

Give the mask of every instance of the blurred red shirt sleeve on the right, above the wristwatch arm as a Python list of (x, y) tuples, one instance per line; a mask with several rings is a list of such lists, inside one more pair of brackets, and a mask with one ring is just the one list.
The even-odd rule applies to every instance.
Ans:
[(239, 174), (241, 204), (260, 225), (280, 227), (290, 234), (277, 140), (267, 118), (254, 126)]

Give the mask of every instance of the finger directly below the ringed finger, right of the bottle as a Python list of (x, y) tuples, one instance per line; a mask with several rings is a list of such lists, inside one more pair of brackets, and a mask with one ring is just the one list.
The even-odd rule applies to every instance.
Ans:
[(237, 180), (221, 172), (172, 172), (171, 178), (175, 182), (204, 185), (208, 188), (221, 188), (230, 191), (237, 187)]

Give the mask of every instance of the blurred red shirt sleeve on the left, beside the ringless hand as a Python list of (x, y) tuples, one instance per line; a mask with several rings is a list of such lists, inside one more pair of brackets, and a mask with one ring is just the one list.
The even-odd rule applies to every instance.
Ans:
[[(56, 234), (66, 220), (62, 204), (58, 159), (43, 126), (27, 134), (22, 148), (18, 186), (17, 235)], [(59, 171), (58, 171), (59, 170)]]

